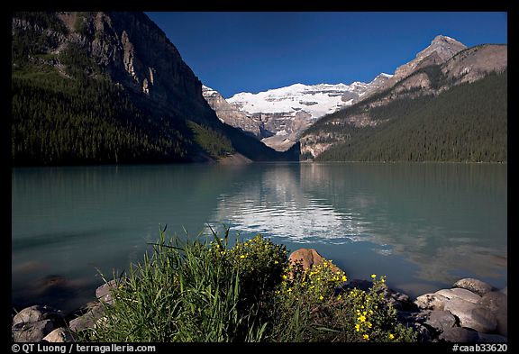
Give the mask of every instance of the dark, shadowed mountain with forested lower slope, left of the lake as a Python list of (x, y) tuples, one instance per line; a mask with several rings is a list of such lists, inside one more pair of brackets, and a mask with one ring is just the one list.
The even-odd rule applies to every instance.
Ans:
[(290, 159), (222, 123), (142, 13), (14, 13), (14, 165)]

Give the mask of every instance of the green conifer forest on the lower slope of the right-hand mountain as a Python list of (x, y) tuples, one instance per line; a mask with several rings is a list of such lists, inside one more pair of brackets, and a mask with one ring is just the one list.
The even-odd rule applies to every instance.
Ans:
[[(347, 123), (360, 105), (333, 113), (308, 132), (333, 145), (318, 161), (506, 161), (507, 70), (440, 95), (409, 96), (372, 107), (377, 125)], [(332, 135), (328, 135), (332, 134)]]

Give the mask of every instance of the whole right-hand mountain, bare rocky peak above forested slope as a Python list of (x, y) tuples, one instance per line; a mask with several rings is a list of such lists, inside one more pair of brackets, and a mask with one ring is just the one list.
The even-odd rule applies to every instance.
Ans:
[(507, 46), (438, 36), (302, 134), (303, 159), (506, 161)]

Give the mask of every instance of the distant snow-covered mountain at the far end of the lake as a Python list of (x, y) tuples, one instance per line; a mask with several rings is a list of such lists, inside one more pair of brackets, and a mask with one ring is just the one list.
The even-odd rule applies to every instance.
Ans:
[(227, 100), (206, 87), (204, 96), (223, 122), (250, 132), (275, 150), (285, 151), (317, 119), (353, 104), (389, 77), (380, 74), (369, 84), (295, 84), (258, 94), (240, 93)]

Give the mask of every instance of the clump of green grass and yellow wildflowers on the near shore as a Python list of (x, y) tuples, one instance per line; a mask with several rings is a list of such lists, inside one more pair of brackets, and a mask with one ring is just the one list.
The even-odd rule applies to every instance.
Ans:
[[(337, 292), (331, 262), (304, 271), (283, 245), (258, 235), (230, 247), (199, 236), (159, 241), (116, 276), (114, 304), (80, 340), (103, 342), (413, 341), (383, 302), (384, 278), (369, 292)], [(212, 239), (212, 240), (211, 240)]]

